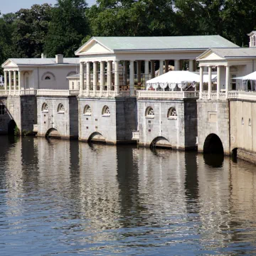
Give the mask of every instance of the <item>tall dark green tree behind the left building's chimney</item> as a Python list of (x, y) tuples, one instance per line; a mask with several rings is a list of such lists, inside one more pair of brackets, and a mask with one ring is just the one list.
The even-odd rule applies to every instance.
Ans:
[(44, 47), (48, 56), (63, 53), (73, 57), (82, 38), (90, 34), (85, 0), (58, 0), (52, 10), (52, 21)]

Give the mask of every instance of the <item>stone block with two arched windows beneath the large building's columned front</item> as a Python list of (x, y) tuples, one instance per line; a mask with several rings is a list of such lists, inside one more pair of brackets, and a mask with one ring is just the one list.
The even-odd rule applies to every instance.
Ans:
[[(132, 130), (137, 129), (135, 97), (78, 98), (79, 139), (100, 140), (107, 144), (132, 143)], [(85, 107), (90, 106), (86, 112)], [(106, 107), (109, 114), (105, 113)]]

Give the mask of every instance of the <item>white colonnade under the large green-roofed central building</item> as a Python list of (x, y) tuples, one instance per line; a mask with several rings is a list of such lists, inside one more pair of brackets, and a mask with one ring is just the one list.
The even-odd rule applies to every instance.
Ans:
[[(87, 60), (80, 62), (80, 95), (85, 96), (105, 96), (119, 95), (120, 85), (127, 85), (129, 78), (129, 95), (135, 95), (134, 80), (137, 84), (142, 82), (142, 61), (144, 61), (144, 82), (155, 77), (155, 61), (156, 60), (122, 60), (122, 82), (120, 82), (120, 64), (121, 60)], [(129, 76), (127, 72), (127, 64), (129, 62)], [(149, 65), (150, 62), (150, 65)], [(112, 67), (114, 63), (114, 79), (112, 78)], [(189, 60), (189, 70), (195, 70), (195, 60)], [(100, 64), (100, 65), (99, 65)], [(92, 69), (91, 69), (92, 65)], [(107, 81), (106, 70), (107, 65)], [(165, 65), (165, 69), (164, 69)], [(100, 70), (98, 70), (100, 66)], [(137, 74), (135, 75), (135, 67)], [(149, 70), (150, 68), (150, 70)], [(174, 70), (181, 70), (181, 60), (174, 60)], [(159, 60), (159, 75), (163, 75), (169, 71), (169, 60)], [(91, 81), (92, 75), (92, 81)], [(100, 81), (99, 81), (100, 75)], [(86, 81), (86, 82), (85, 82)], [(122, 94), (122, 93), (121, 93)]]

